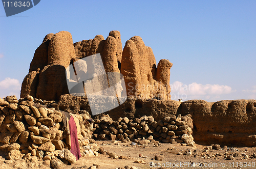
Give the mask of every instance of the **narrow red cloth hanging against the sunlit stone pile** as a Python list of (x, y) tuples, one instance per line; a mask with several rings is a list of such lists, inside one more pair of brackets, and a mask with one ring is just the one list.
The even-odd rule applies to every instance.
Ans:
[(77, 129), (74, 118), (71, 116), (69, 120), (69, 130), (70, 130), (70, 138), (71, 138), (71, 153), (76, 156), (76, 160), (81, 157), (78, 138), (77, 138)]

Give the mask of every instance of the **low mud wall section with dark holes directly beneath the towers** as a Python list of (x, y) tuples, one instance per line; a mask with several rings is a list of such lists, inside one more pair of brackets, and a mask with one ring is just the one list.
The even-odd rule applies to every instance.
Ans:
[[(113, 120), (119, 117), (140, 118), (144, 115), (153, 116), (155, 120), (161, 120), (162, 117), (176, 115), (181, 102), (175, 100), (157, 100), (157, 99), (137, 99), (139, 97), (128, 96), (127, 100), (120, 106), (106, 111)], [(87, 97), (76, 97), (72, 95), (62, 95), (55, 108), (63, 111), (79, 113), (81, 110), (90, 112), (90, 105)]]

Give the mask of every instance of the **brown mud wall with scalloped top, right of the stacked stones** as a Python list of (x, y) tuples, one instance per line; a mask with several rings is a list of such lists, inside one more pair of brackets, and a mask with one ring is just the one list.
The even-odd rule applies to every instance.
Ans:
[(178, 112), (192, 116), (198, 143), (256, 145), (256, 100), (188, 100)]

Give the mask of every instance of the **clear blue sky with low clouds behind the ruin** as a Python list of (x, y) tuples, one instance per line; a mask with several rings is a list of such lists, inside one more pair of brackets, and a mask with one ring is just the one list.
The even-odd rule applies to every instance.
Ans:
[(157, 62), (173, 63), (174, 100), (256, 99), (255, 9), (256, 1), (42, 0), (6, 17), (0, 5), (0, 97), (19, 96), (45, 35), (68, 31), (78, 42), (118, 30), (123, 45), (140, 36)]

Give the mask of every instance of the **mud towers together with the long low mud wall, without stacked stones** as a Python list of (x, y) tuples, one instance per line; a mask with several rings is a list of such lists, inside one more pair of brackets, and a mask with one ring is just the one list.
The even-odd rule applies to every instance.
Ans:
[[(97, 35), (93, 40), (74, 44), (68, 32), (48, 34), (35, 51), (20, 97), (31, 95), (42, 100), (55, 100), (53, 107), (72, 113), (90, 112), (86, 97), (68, 94), (65, 68), (96, 53), (101, 54), (106, 72), (120, 72), (124, 76), (128, 99), (121, 106), (105, 112), (113, 120), (144, 115), (161, 120), (170, 115), (190, 114), (194, 123), (193, 136), (198, 143), (256, 145), (255, 100), (216, 103), (171, 100), (169, 78), (173, 64), (165, 59), (157, 64), (152, 49), (138, 36), (127, 40), (122, 49), (118, 31), (111, 31), (105, 40)], [(148, 86), (150, 88), (146, 88)]]

